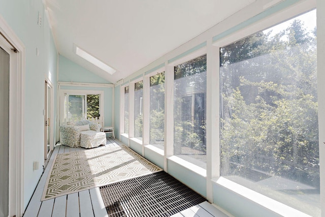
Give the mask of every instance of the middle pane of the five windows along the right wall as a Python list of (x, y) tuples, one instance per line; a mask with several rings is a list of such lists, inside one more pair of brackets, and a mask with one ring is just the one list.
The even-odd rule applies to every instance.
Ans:
[(165, 72), (150, 77), (150, 141), (164, 150)]

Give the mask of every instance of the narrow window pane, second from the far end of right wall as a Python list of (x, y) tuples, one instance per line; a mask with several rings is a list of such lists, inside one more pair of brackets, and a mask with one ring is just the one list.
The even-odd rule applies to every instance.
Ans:
[(142, 114), (142, 96), (143, 96), (143, 81), (135, 83), (134, 94), (134, 137), (142, 140), (143, 114)]

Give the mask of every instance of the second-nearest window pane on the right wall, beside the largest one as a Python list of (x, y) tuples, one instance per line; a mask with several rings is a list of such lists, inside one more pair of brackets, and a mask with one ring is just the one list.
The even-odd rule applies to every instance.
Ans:
[(207, 56), (174, 67), (174, 154), (206, 168)]

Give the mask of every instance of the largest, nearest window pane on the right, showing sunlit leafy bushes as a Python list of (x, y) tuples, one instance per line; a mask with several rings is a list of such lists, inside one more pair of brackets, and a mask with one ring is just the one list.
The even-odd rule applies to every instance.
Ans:
[(220, 48), (221, 175), (320, 215), (316, 12)]

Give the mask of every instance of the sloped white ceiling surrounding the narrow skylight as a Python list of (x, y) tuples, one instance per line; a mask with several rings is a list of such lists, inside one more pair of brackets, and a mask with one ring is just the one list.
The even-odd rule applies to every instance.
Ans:
[[(60, 55), (115, 83), (255, 0), (45, 0)], [(73, 44), (117, 72), (73, 52)]]

